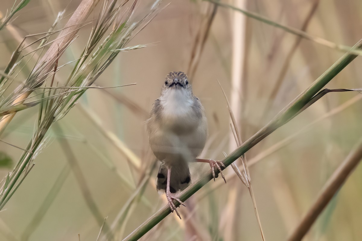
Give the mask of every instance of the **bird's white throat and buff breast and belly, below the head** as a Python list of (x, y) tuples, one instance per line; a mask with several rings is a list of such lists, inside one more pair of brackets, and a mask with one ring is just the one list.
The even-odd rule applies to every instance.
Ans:
[(207, 136), (207, 120), (200, 102), (182, 89), (170, 89), (160, 97), (160, 105), (159, 120), (149, 123), (154, 129), (150, 138), (153, 153), (165, 162), (196, 158)]

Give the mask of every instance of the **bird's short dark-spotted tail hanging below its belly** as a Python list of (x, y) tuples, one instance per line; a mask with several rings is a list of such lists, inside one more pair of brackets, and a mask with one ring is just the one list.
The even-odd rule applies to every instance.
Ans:
[[(160, 165), (160, 170), (157, 173), (156, 188), (159, 192), (166, 192), (167, 187), (167, 167)], [(177, 166), (172, 166), (170, 174), (170, 192), (176, 193), (184, 190), (191, 183), (190, 170), (187, 163), (180, 163)]]

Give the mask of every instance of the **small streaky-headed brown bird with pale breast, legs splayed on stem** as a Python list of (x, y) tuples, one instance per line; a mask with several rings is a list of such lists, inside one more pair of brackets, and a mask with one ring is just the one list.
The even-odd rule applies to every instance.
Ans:
[(166, 75), (161, 96), (153, 103), (146, 123), (152, 152), (161, 161), (157, 190), (166, 193), (171, 211), (175, 210), (180, 217), (173, 201), (184, 205), (175, 193), (191, 183), (189, 162), (209, 163), (214, 180), (217, 167), (225, 181), (221, 161), (197, 158), (205, 146), (207, 119), (185, 73), (175, 71)]

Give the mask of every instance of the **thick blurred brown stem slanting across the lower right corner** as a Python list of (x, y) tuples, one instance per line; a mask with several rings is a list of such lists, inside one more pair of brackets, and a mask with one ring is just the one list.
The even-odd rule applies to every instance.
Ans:
[(327, 183), (323, 186), (316, 200), (308, 212), (303, 216), (298, 226), (287, 238), (288, 241), (300, 241), (311, 228), (323, 209), (332, 200), (333, 196), (342, 187), (345, 180), (362, 159), (362, 141), (349, 153), (341, 165), (333, 172)]

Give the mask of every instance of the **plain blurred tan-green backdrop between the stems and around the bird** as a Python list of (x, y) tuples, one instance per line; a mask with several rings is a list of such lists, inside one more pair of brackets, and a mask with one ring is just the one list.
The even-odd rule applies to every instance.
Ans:
[[(45, 32), (59, 11), (67, 8), (66, 15), (71, 14), (79, 3), (79, 0), (31, 0), (10, 25), (22, 37)], [(163, 5), (167, 3), (164, 1)], [(12, 4), (12, 0), (1, 2), (3, 15)], [(230, 1), (230, 4), (236, 3)], [(153, 100), (159, 97), (164, 76), (176, 70), (187, 73), (195, 38), (203, 30), (201, 23), (210, 16), (211, 6), (211, 3), (201, 1), (171, 1), (129, 45), (157, 43), (120, 53), (96, 81), (104, 87), (137, 84), (106, 91), (89, 89), (70, 113), (55, 123), (58, 127), (51, 128), (49, 141), (35, 159), (34, 168), (0, 212), (0, 240), (78, 240), (78, 234), (80, 240), (96, 240), (100, 225), (87, 205), (89, 199), (93, 200), (103, 218), (108, 216), (106, 223), (112, 224), (142, 180), (142, 170), (147, 173), (154, 161), (144, 126), (147, 113)], [(302, 28), (311, 9), (315, 8), (307, 21), (308, 34), (349, 46), (361, 38), (361, 1), (257, 0), (247, 1), (245, 6), (247, 10), (298, 29)], [(277, 84), (283, 64), (298, 37), (247, 18), (243, 23), (246, 26), (245, 51), (240, 53), (245, 63), (239, 66), (243, 70), (240, 79), (243, 89), (232, 89), (232, 54), (235, 54), (232, 44), (233, 14), (235, 12), (231, 9), (216, 9), (205, 47), (197, 61), (198, 68), (191, 79), (194, 94), (205, 107), (209, 121), (209, 141), (203, 153), (206, 158), (222, 159), (222, 151), (228, 153), (230, 145), (235, 145), (229, 141), (229, 114), (216, 79), (230, 98), (235, 91), (242, 101), (237, 118), (243, 140), (246, 140), (343, 54), (302, 39), (287, 61), (289, 66), (281, 84)], [(91, 26), (86, 26), (80, 30), (79, 38), (66, 50), (59, 64), (79, 56), (90, 29)], [(8, 27), (0, 32), (0, 69), (5, 68), (17, 45)], [(358, 57), (327, 88), (360, 88), (361, 63)], [(70, 70), (66, 67), (59, 71), (57, 78), (67, 78)], [(27, 71), (25, 68), (22, 73), (24, 78), (28, 75)], [(270, 99), (274, 88), (276, 95)], [(355, 100), (349, 107), (321, 119), (250, 167), (266, 240), (286, 238), (325, 181), (360, 139), (362, 106), (359, 100), (362, 97), (359, 96), (358, 92), (329, 93), (247, 152), (246, 156), (251, 160), (346, 101)], [(133, 105), (130, 107), (125, 102)], [(79, 104), (85, 106), (86, 111)], [(90, 113), (99, 120), (99, 125), (94, 124)], [(37, 107), (20, 111), (1, 139), (25, 148), (31, 139), (37, 115)], [(117, 147), (115, 141), (104, 135), (104, 131), (111, 132), (125, 147)], [(62, 147), (64, 140), (70, 149)], [(130, 155), (125, 154), (125, 148), (139, 158), (139, 170), (130, 165)], [(5, 143), (0, 143), (0, 150), (13, 162), (22, 153)], [(79, 163), (89, 193), (79, 184), (79, 175), (69, 166), (66, 152), (72, 152)], [(200, 170), (207, 171), (209, 168), (202, 164), (191, 165), (194, 180)], [(11, 169), (12, 166), (4, 166), (0, 174), (6, 176)], [(230, 167), (224, 172), (233, 173)], [(135, 202), (123, 226), (117, 229), (119, 240), (163, 205), (152, 185), (155, 173), (152, 172), (143, 198)], [(59, 182), (59, 175), (62, 175), (60, 179), (63, 181)], [(360, 240), (361, 176), (359, 166), (317, 219), (306, 240)], [(184, 210), (182, 214), (186, 215), (185, 218), (180, 221), (176, 215), (169, 215), (144, 240), (259, 240), (260, 232), (247, 189), (237, 179), (220, 185), (221, 182), (223, 180), (217, 179), (215, 183), (208, 183), (186, 202), (187, 207), (180, 209), (181, 212)], [(57, 189), (54, 188), (55, 183), (59, 193), (51, 193)], [(219, 188), (211, 191), (216, 185)], [(49, 195), (53, 200), (46, 208), (44, 200)], [(39, 210), (44, 213), (40, 219), (34, 220)], [(191, 215), (189, 219), (188, 215)]]

